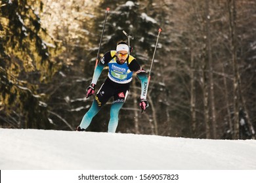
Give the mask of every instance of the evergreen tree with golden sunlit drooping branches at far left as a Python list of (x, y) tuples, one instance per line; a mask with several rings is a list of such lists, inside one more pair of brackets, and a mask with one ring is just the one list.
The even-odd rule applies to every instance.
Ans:
[(1, 125), (51, 128), (37, 84), (58, 69), (57, 49), (39, 18), (41, 1), (1, 1)]

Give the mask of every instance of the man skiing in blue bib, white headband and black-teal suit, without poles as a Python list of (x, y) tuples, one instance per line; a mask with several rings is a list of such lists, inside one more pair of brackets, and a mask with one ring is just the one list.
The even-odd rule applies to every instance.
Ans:
[(139, 62), (129, 54), (129, 46), (127, 42), (121, 41), (117, 43), (116, 50), (106, 52), (100, 59), (93, 74), (91, 85), (87, 88), (86, 97), (90, 97), (95, 93), (95, 86), (100, 74), (105, 66), (108, 65), (108, 77), (104, 84), (96, 93), (91, 108), (83, 116), (81, 123), (77, 126), (77, 131), (85, 131), (91, 124), (93, 117), (98, 113), (100, 108), (106, 104), (110, 97), (114, 97), (114, 101), (110, 108), (110, 121), (108, 124), (108, 132), (115, 133), (118, 125), (118, 114), (121, 107), (125, 103), (128, 95), (133, 72), (137, 73), (141, 82), (140, 108), (141, 112), (146, 110), (148, 102), (146, 101), (146, 92), (148, 86), (148, 77), (146, 72), (140, 66)]

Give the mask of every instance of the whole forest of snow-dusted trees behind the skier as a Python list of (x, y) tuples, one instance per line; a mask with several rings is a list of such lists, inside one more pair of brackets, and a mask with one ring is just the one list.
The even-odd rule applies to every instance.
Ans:
[[(255, 0), (0, 2), (0, 127), (75, 130), (94, 98), (85, 95), (106, 17), (100, 56), (127, 41), (124, 30), (147, 73), (162, 29), (149, 107), (141, 114), (135, 74), (117, 133), (255, 139)], [(88, 131), (107, 131), (111, 104)]]

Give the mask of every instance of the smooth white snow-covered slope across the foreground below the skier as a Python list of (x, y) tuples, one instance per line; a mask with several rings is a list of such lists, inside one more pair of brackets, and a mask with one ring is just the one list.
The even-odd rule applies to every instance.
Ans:
[(255, 140), (0, 128), (1, 170), (255, 170)]

